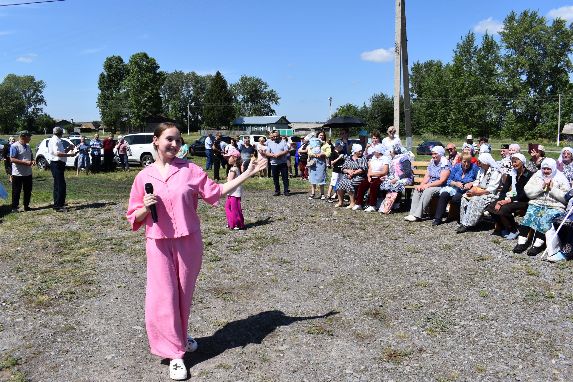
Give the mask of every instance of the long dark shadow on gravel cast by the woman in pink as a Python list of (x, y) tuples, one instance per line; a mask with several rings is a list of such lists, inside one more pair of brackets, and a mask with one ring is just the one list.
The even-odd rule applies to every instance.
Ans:
[[(261, 312), (244, 320), (229, 322), (213, 333), (213, 336), (195, 338), (198, 345), (197, 351), (185, 353), (183, 361), (188, 368), (192, 368), (203, 361), (221, 355), (228, 349), (244, 348), (248, 344), (261, 344), (262, 340), (278, 326), (291, 325), (297, 321), (316, 320), (337, 313), (331, 311), (321, 316), (289, 317), (280, 310)], [(162, 363), (168, 365), (169, 360), (164, 359)]]

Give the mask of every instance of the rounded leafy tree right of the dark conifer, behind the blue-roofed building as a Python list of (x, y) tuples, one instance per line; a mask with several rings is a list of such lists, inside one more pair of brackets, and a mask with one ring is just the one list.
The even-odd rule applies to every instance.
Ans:
[(281, 99), (261, 78), (246, 74), (231, 84), (230, 89), (237, 100), (236, 117), (274, 115), (276, 112), (273, 105), (278, 106), (278, 101)]

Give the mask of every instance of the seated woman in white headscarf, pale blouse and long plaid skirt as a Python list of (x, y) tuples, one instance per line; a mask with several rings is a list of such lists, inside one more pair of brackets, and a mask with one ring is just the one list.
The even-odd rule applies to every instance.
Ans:
[(481, 222), (486, 208), (496, 197), (497, 188), (501, 183), (501, 171), (489, 152), (481, 153), (477, 160), (481, 167), (477, 173), (477, 179), (473, 182), (472, 189), (461, 198), (460, 226), (456, 229), (456, 232), (460, 234), (467, 231), (468, 227)]

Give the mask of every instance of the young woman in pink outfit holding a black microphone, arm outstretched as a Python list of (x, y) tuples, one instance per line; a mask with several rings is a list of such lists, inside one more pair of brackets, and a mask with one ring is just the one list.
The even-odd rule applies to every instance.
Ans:
[[(266, 160), (252, 162), (237, 178), (217, 184), (201, 167), (176, 157), (182, 138), (175, 124), (159, 124), (153, 141), (157, 159), (135, 177), (127, 219), (134, 231), (146, 225), (146, 328), (151, 353), (171, 359), (169, 376), (182, 380), (187, 378), (183, 355), (197, 348), (187, 336), (187, 324), (203, 257), (195, 212), (198, 195), (216, 206), (221, 196), (256, 174)], [(153, 193), (147, 194), (146, 183), (152, 184)], [(156, 207), (157, 223), (150, 214), (151, 206)]]

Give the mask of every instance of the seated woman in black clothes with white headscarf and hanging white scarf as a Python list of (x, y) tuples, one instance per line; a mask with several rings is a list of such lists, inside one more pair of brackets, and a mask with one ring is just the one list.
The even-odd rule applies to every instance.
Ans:
[[(513, 240), (519, 235), (513, 212), (527, 210), (529, 198), (525, 194), (524, 187), (534, 174), (525, 167), (527, 159), (523, 154), (514, 153), (511, 160), (513, 171), (505, 178), (499, 198), (493, 200), (488, 206), (489, 214), (496, 221), (497, 226), (502, 227), (501, 236), (508, 240)], [(509, 191), (509, 187), (511, 187), (511, 191)], [(507, 220), (507, 227), (501, 216)]]

